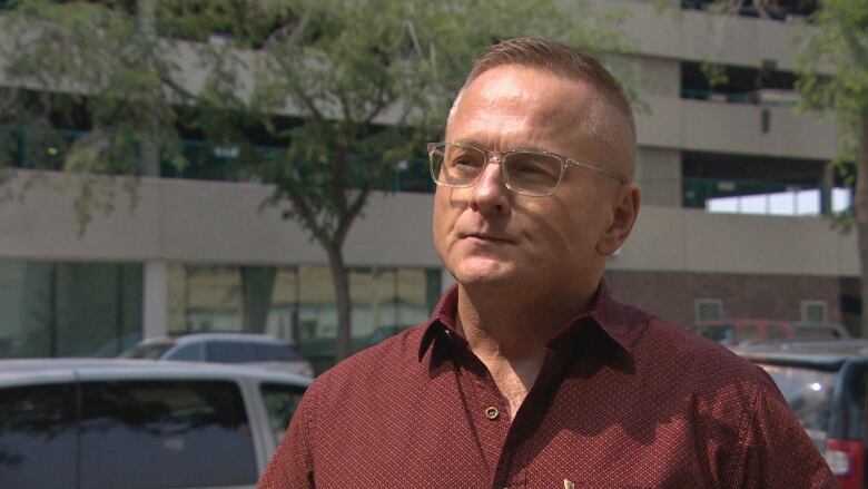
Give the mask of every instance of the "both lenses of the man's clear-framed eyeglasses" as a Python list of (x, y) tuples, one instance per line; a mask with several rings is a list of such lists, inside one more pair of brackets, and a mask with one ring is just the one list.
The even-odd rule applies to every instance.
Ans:
[[(485, 166), (485, 153), (461, 145), (437, 145), (431, 151), (432, 174), (441, 185), (473, 185)], [(515, 151), (500, 162), (509, 186), (521, 194), (549, 195), (561, 179), (561, 160), (551, 155)]]

